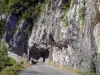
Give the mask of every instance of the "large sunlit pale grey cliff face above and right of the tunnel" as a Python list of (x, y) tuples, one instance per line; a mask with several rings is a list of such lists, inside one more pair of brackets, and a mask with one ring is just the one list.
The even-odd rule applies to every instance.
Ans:
[[(97, 38), (93, 33), (97, 2), (76, 0), (74, 3), (75, 1), (72, 1), (69, 10), (65, 12), (62, 9), (63, 0), (52, 1), (51, 6), (46, 7), (47, 13), (41, 14), (33, 27), (29, 46), (39, 44), (42, 40), (52, 48), (50, 60), (53, 62), (70, 68), (86, 69), (91, 61), (96, 61), (97, 55)], [(42, 39), (44, 34), (45, 40)], [(58, 43), (59, 45), (56, 45)]]

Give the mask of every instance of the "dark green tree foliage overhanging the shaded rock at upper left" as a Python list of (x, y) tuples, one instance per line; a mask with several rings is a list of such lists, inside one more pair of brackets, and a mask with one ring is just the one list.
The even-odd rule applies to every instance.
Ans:
[[(2, 14), (15, 15), (20, 21), (26, 19), (30, 27), (38, 18), (39, 14), (44, 10), (39, 3), (44, 3), (45, 0), (0, 0), (0, 16)], [(0, 21), (0, 37), (5, 31), (6, 21)]]

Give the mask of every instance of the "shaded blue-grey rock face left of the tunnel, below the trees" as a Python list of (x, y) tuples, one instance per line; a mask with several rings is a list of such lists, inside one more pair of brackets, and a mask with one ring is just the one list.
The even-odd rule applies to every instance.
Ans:
[(24, 32), (28, 23), (24, 20), (17, 26), (16, 16), (11, 15), (8, 18), (5, 40), (9, 44), (9, 50), (20, 56), (27, 53), (28, 34)]

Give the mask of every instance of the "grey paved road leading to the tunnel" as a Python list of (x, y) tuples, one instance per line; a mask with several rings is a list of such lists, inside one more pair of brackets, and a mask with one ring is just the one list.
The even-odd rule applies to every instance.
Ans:
[(58, 69), (56, 67), (40, 62), (21, 71), (19, 75), (77, 75), (77, 74), (62, 69)]

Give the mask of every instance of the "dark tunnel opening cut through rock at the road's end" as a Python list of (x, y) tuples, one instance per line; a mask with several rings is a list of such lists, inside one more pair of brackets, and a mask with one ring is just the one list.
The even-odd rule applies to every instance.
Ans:
[(34, 60), (39, 61), (40, 58), (42, 58), (42, 62), (45, 62), (45, 60), (48, 57), (49, 57), (48, 49), (33, 47), (29, 51), (29, 61), (33, 64), (36, 63)]

